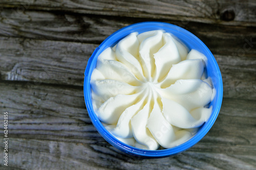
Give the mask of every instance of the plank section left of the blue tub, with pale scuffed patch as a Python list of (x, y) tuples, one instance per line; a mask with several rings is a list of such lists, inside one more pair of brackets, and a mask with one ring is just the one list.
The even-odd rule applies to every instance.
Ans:
[(1, 79), (82, 86), (87, 61), (97, 46), (1, 37)]

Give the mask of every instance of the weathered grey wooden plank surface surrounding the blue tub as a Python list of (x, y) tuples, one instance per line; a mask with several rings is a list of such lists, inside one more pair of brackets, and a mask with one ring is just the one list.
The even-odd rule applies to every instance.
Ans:
[[(214, 54), (224, 98), (193, 148), (141, 159), (96, 131), (83, 99), (94, 49), (124, 26), (174, 23)], [(9, 162), (0, 169), (256, 169), (256, 1), (1, 0), (0, 109), (9, 113)]]

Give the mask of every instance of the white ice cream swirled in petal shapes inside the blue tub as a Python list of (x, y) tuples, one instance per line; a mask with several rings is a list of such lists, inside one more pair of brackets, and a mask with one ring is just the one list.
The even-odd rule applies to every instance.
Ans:
[(132, 33), (98, 57), (93, 108), (122, 142), (157, 150), (190, 139), (210, 117), (207, 58), (162, 30)]

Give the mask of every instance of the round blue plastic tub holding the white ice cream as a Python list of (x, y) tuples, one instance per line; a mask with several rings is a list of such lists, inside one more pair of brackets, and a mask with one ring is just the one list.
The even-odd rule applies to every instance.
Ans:
[[(131, 147), (130, 145), (127, 145), (118, 139), (116, 139), (112, 134), (110, 134), (101, 124), (100, 120), (96, 116), (96, 114), (93, 111), (92, 106), (92, 97), (91, 97), (91, 75), (93, 69), (96, 67), (97, 58), (100, 53), (102, 53), (106, 48), (110, 46), (114, 46), (119, 40), (124, 38), (125, 36), (133, 33), (133, 32), (146, 32), (146, 31), (152, 31), (152, 30), (165, 30), (166, 32), (172, 33), (176, 37), (178, 37), (183, 43), (186, 44), (186, 46), (191, 50), (192, 48), (203, 53), (207, 59), (207, 65), (206, 65), (206, 71), (208, 77), (211, 77), (212, 83), (214, 84), (214, 88), (216, 89), (216, 95), (214, 100), (210, 103), (210, 106), (212, 106), (212, 114), (207, 122), (204, 123), (204, 125), (201, 126), (199, 131), (188, 141), (185, 143), (178, 145), (175, 148), (170, 149), (164, 149), (164, 150), (142, 150), (135, 147)], [(139, 157), (147, 157), (147, 158), (161, 158), (161, 157), (167, 157), (167, 156), (173, 156), (176, 154), (179, 154), (181, 152), (186, 151), (187, 149), (193, 147), (197, 142), (199, 142), (206, 133), (210, 130), (212, 125), (214, 125), (215, 120), (219, 114), (221, 104), (222, 104), (222, 97), (223, 97), (223, 85), (222, 85), (222, 78), (221, 78), (221, 72), (220, 68), (214, 58), (214, 56), (211, 54), (207, 46), (195, 35), (191, 34), (190, 32), (186, 31), (185, 29), (172, 25), (170, 23), (165, 22), (140, 22), (135, 23), (133, 25), (124, 27), (112, 35), (110, 35), (108, 38), (106, 38), (99, 47), (96, 48), (96, 50), (93, 52), (92, 56), (90, 57), (86, 71), (84, 72), (84, 84), (83, 84), (83, 93), (84, 93), (84, 100), (86, 102), (87, 110), (89, 113), (89, 116), (92, 120), (92, 123), (94, 127), (97, 129), (97, 131), (101, 134), (101, 136), (108, 141), (110, 144), (112, 144), (117, 149), (131, 155), (139, 156)]]

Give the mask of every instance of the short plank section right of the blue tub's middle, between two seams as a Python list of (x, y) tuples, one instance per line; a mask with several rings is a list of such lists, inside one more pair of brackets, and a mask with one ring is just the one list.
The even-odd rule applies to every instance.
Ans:
[(256, 60), (252, 57), (215, 55), (223, 80), (223, 96), (256, 99)]

